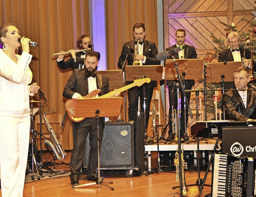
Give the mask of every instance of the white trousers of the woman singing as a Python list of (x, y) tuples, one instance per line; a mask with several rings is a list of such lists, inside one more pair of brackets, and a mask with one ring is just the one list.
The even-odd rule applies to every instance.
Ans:
[(2, 197), (22, 197), (28, 145), (30, 115), (26, 110), (0, 110), (0, 166)]

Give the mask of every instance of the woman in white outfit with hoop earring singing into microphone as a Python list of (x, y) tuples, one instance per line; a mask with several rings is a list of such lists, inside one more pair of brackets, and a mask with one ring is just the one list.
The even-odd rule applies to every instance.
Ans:
[[(22, 197), (30, 137), (29, 96), (39, 86), (32, 81), (30, 39), (15, 24), (0, 27), (0, 166), (2, 196)], [(22, 45), (22, 54), (16, 49)]]

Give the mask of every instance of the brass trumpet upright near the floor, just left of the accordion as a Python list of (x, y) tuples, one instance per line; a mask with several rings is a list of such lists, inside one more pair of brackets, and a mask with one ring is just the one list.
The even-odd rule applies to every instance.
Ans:
[(188, 188), (186, 185), (186, 180), (185, 180), (185, 169), (188, 169), (188, 164), (187, 162), (184, 161), (183, 158), (183, 144), (181, 145), (181, 165), (182, 165), (182, 177), (180, 180), (180, 169), (179, 169), (179, 148), (177, 149), (175, 153), (175, 159), (174, 159), (174, 165), (176, 166), (176, 182), (178, 183), (179, 181), (182, 181), (182, 195), (187, 195), (188, 194)]

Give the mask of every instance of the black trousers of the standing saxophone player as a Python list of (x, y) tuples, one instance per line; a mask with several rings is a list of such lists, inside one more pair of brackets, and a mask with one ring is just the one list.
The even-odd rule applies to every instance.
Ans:
[[(145, 104), (146, 104), (146, 129), (148, 128), (150, 102), (152, 99), (154, 87), (145, 87)], [(132, 87), (128, 89), (128, 115), (130, 121), (136, 121), (138, 117), (138, 99), (140, 97), (140, 110), (144, 112), (144, 95), (143, 95), (143, 85), (138, 87)]]

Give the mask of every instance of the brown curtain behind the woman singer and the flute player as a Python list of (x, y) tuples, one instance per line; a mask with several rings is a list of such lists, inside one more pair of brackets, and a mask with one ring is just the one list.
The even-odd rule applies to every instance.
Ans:
[[(56, 63), (58, 56), (52, 57), (52, 54), (76, 49), (77, 38), (82, 34), (90, 35), (88, 0), (2, 0), (0, 12), (0, 25), (13, 22), (21, 36), (39, 44), (30, 47), (33, 55), (30, 69), (48, 100), (42, 109), (47, 112), (57, 108), (57, 113), (63, 116), (66, 99), (62, 97), (62, 91), (72, 70), (60, 70)], [(34, 99), (38, 100), (38, 95)], [(69, 124), (69, 118), (66, 118), (63, 130), (66, 150), (69, 145), (73, 148), (73, 132)]]

